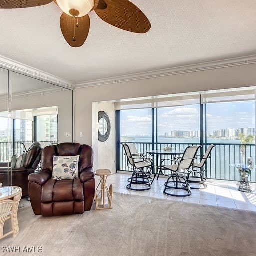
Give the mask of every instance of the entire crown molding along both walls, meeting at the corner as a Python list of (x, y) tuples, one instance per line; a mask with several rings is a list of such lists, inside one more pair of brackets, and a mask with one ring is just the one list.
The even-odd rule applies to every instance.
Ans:
[(40, 80), (49, 82), (51, 84), (58, 85), (63, 88), (67, 88), (71, 90), (76, 88), (89, 87), (89, 86), (134, 81), (134, 80), (141, 80), (141, 79), (147, 79), (147, 78), (155, 78), (155, 77), (161, 77), (161, 76), (224, 68), (224, 67), (247, 65), (247, 64), (253, 64), (253, 63), (256, 63), (256, 55), (227, 58), (227, 59), (216, 60), (216, 61), (202, 62), (198, 64), (183, 65), (183, 66), (170, 67), (170, 68), (153, 70), (148, 72), (120, 75), (115, 77), (108, 77), (103, 79), (73, 83), (71, 81), (62, 79), (60, 77), (54, 76), (52, 74), (46, 73), (44, 71), (41, 71), (39, 69), (33, 68), (28, 65), (24, 65), (20, 62), (11, 60), (9, 58), (6, 58), (0, 55), (0, 67), (2, 68), (6, 68), (11, 71), (22, 73), (24, 75), (28, 75), (36, 79), (40, 79)]

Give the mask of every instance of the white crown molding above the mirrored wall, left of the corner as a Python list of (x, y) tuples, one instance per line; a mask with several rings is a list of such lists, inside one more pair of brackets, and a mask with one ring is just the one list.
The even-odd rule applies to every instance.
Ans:
[(18, 72), (24, 75), (28, 75), (45, 82), (49, 82), (49, 83), (52, 83), (53, 85), (58, 85), (66, 89), (73, 89), (73, 83), (71, 81), (62, 79), (60, 77), (54, 76), (52, 74), (46, 73), (44, 71), (22, 64), (20, 62), (17, 62), (10, 58), (6, 58), (1, 55), (0, 55), (0, 67), (6, 68), (8, 70)]

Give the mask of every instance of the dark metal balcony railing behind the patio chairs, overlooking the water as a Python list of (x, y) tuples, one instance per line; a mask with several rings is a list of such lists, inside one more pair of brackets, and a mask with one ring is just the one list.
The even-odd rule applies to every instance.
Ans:
[[(151, 143), (142, 143), (134, 141), (125, 142), (134, 143), (137, 148), (137, 151), (140, 153), (145, 153), (147, 150), (152, 149)], [(205, 177), (209, 179), (239, 181), (240, 174), (237, 168), (232, 167), (231, 164), (242, 163), (246, 161), (245, 159), (247, 159), (247, 157), (252, 157), (255, 160), (255, 144), (214, 144), (216, 145), (216, 147), (212, 150), (210, 159), (207, 160)], [(164, 147), (170, 146), (172, 147), (173, 150), (183, 151), (187, 146), (191, 145), (199, 145), (199, 143), (155, 143), (154, 149), (163, 149)], [(206, 144), (206, 146), (208, 145), (210, 145), (210, 143)], [(242, 154), (242, 146), (245, 147), (244, 155)], [(164, 155), (164, 158), (168, 158), (168, 156)], [(155, 161), (157, 161), (156, 158)], [(120, 170), (130, 171), (130, 169), (128, 169), (127, 167), (127, 157), (124, 155), (122, 146), (120, 150), (120, 163)], [(255, 169), (252, 171), (248, 179), (250, 182), (256, 182)]]

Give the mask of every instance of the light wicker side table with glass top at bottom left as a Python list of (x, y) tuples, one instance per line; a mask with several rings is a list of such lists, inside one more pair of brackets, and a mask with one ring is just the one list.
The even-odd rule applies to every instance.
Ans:
[[(12, 234), (16, 237), (18, 227), (18, 205), (22, 195), (22, 189), (18, 186), (3, 186), (0, 191), (0, 239)], [(11, 219), (12, 230), (3, 234), (3, 226), (7, 219)]]

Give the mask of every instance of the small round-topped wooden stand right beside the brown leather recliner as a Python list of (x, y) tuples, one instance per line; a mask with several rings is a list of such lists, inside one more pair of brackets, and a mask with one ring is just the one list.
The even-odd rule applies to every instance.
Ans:
[[(109, 175), (111, 175), (112, 172), (108, 169), (99, 169), (95, 171), (96, 176), (100, 176), (100, 182), (95, 190), (95, 203), (96, 208), (95, 210), (101, 210), (101, 209), (112, 209), (112, 199), (113, 199), (113, 185), (111, 184), (109, 188), (106, 185), (106, 180)], [(101, 189), (97, 193), (97, 189), (101, 184)], [(101, 194), (101, 197), (99, 195)], [(107, 195), (107, 199), (105, 198), (105, 195)], [(99, 200), (101, 201), (101, 204), (99, 204)]]

